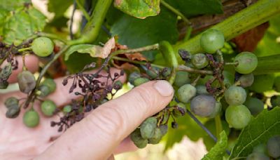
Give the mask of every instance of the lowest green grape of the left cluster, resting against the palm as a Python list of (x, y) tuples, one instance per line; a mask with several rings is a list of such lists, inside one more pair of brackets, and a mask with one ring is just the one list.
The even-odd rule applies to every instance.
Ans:
[(25, 124), (25, 126), (29, 128), (34, 128), (38, 126), (39, 121), (40, 121), (40, 116), (38, 112), (34, 110), (29, 110), (25, 112), (25, 114), (23, 115), (23, 123)]

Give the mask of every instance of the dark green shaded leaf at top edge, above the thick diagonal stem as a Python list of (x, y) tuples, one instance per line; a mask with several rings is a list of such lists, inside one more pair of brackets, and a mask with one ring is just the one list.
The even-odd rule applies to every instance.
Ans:
[(221, 0), (169, 0), (167, 3), (188, 17), (201, 14), (223, 13)]

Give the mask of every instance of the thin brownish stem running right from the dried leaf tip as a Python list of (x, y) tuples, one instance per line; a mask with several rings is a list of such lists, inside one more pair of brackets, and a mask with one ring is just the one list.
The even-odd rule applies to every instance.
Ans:
[(119, 55), (119, 54), (125, 54), (125, 53), (137, 53), (137, 52), (143, 52), (143, 51), (151, 51), (151, 50), (157, 50), (159, 48), (159, 44), (153, 44), (150, 46), (144, 46), (141, 48), (134, 48), (134, 49), (122, 49), (115, 51), (111, 53), (111, 57)]

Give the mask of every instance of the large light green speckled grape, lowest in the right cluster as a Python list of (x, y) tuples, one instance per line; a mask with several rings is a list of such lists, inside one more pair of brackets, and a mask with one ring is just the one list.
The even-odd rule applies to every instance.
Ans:
[(225, 110), (225, 120), (230, 127), (241, 129), (251, 121), (251, 112), (245, 105), (232, 105)]

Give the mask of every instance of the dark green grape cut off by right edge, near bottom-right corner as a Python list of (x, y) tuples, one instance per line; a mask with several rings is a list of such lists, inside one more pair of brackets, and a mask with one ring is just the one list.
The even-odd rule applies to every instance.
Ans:
[(280, 135), (273, 136), (267, 140), (267, 153), (274, 159), (280, 156)]

